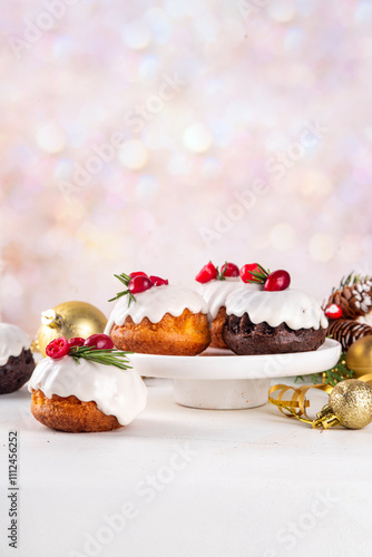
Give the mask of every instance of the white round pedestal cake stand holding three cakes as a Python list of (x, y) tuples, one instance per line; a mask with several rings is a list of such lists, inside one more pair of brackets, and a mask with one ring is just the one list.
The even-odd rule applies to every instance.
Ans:
[(326, 339), (314, 352), (293, 354), (236, 355), (208, 349), (197, 356), (135, 353), (129, 359), (143, 377), (173, 379), (178, 404), (235, 410), (265, 404), (272, 379), (323, 372), (340, 354), (341, 344)]

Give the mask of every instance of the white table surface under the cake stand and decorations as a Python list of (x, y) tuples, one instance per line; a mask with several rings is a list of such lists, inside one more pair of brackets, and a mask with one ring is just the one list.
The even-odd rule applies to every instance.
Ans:
[[(268, 404), (194, 410), (170, 380), (147, 383), (147, 409), (109, 433), (45, 428), (26, 388), (0, 397), (1, 557), (372, 555), (372, 426), (313, 430)], [(18, 549), (6, 539), (10, 430)]]

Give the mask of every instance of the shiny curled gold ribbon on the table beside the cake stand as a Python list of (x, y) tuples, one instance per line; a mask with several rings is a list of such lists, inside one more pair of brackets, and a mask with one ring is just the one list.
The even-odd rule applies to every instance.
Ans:
[[(360, 381), (364, 381), (372, 387), (372, 373), (368, 373), (359, 378)], [(275, 384), (268, 391), (268, 402), (276, 405), (278, 410), (287, 418), (296, 418), (297, 420), (310, 423), (313, 428), (319, 427), (320, 420), (312, 420), (306, 413), (306, 408), (310, 407), (310, 401), (306, 399), (307, 391), (310, 389), (317, 389), (320, 391), (325, 391), (327, 394), (332, 391), (333, 387), (330, 384), (319, 383), (303, 387), (288, 387), (285, 384)], [(278, 391), (276, 397), (272, 397), (273, 393)], [(284, 394), (290, 394), (288, 391), (293, 391), (291, 400), (283, 400)], [(329, 407), (327, 407), (329, 408)], [(326, 410), (325, 407), (323, 411)], [(323, 412), (322, 411), (322, 412)], [(321, 412), (319, 412), (320, 417)], [(323, 424), (325, 427), (325, 424)], [(329, 427), (329, 426), (327, 426)]]

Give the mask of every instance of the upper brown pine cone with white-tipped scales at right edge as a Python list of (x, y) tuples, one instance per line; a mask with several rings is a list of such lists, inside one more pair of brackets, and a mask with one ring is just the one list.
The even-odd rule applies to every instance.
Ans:
[(372, 277), (350, 274), (341, 281), (341, 287), (333, 292), (326, 306), (336, 304), (344, 319), (358, 319), (372, 311)]

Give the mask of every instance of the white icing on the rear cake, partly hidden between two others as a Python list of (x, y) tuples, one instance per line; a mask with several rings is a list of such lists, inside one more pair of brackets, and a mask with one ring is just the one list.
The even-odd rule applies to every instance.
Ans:
[(216, 319), (219, 307), (226, 306), (226, 299), (233, 292), (247, 290), (262, 290), (260, 284), (244, 283), (239, 277), (226, 277), (225, 281), (209, 281), (204, 284), (198, 284), (197, 292), (204, 297), (208, 304), (208, 319)]

